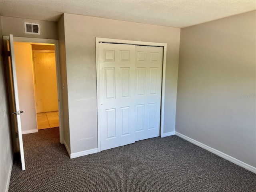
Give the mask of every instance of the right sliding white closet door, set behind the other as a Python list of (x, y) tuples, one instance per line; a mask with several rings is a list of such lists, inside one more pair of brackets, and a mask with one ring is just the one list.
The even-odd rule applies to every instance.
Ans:
[(135, 140), (160, 136), (163, 47), (136, 46)]

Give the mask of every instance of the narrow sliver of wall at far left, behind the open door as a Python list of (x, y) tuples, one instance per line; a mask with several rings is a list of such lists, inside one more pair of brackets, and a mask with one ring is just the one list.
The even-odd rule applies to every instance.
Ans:
[[(2, 17), (1, 17), (2, 18)], [(0, 191), (8, 190), (12, 169), (12, 136), (9, 118), (8, 95), (4, 74), (2, 28), (0, 28)], [(6, 190), (7, 189), (7, 190)]]

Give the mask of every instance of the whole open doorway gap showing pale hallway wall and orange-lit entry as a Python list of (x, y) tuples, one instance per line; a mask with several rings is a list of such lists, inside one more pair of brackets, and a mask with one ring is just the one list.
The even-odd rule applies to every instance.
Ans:
[(22, 134), (59, 127), (54, 45), (14, 42), (14, 55)]

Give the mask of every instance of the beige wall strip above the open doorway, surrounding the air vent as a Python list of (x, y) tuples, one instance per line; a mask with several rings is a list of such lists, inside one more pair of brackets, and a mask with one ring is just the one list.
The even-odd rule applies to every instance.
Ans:
[[(41, 34), (25, 34), (24, 22), (39, 23)], [(2, 16), (1, 27), (3, 36), (13, 34), (14, 37), (58, 39), (57, 22)]]

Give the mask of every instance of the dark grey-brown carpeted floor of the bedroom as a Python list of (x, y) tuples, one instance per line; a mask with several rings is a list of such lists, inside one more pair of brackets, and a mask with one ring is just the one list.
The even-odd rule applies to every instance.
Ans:
[(23, 135), (10, 192), (256, 192), (256, 174), (178, 136), (70, 159), (58, 128)]

